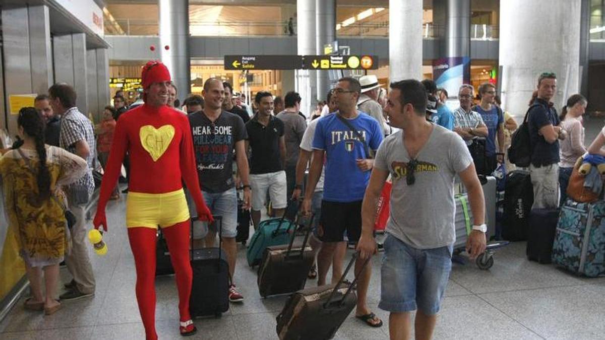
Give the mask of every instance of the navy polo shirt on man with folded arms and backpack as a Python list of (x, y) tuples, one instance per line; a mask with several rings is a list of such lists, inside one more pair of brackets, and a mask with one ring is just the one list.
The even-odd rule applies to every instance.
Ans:
[(534, 166), (546, 166), (558, 163), (559, 158), (559, 141), (554, 143), (546, 142), (544, 136), (538, 134), (541, 128), (546, 125), (557, 126), (561, 120), (557, 116), (557, 110), (549, 105), (546, 100), (536, 99), (534, 106), (529, 110), (528, 126), (529, 140), (531, 142), (532, 156), (531, 163)]

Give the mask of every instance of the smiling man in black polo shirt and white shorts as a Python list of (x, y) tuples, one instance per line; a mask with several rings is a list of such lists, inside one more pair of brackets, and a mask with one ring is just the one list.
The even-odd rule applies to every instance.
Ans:
[(246, 150), (250, 146), (250, 185), (252, 185), (252, 223), (258, 226), (261, 209), (267, 200), (267, 191), (271, 200), (273, 216), (284, 214), (286, 198), (286, 139), (284, 123), (273, 116), (273, 96), (260, 91), (254, 101), (258, 107), (249, 122), (246, 123), (248, 139)]

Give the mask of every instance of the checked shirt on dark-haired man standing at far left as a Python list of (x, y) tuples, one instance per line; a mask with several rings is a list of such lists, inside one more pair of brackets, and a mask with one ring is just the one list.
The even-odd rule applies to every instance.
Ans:
[(86, 162), (88, 171), (82, 178), (73, 183), (68, 188), (79, 186), (88, 189), (88, 194), (92, 195), (94, 191), (93, 167), (96, 159), (96, 143), (94, 141), (93, 123), (88, 120), (76, 107), (65, 111), (61, 119), (61, 129), (59, 134), (59, 146), (72, 154), (76, 153), (76, 142), (84, 140), (88, 143), (90, 154)]

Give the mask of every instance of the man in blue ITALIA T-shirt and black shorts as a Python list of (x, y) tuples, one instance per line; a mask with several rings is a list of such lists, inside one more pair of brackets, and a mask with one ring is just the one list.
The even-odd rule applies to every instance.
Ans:
[[(370, 149), (378, 149), (382, 142), (378, 122), (356, 109), (360, 94), (358, 80), (350, 77), (340, 79), (333, 94), (338, 102), (338, 113), (322, 117), (315, 128), (313, 159), (302, 209), (306, 214), (311, 211), (311, 198), (325, 155), (324, 197), (318, 226), (318, 235), (323, 242), (317, 259), (319, 278), (325, 278), (345, 230), (352, 243), (357, 243), (361, 236), (361, 203), (374, 164), (369, 153)], [(365, 266), (362, 271), (363, 263), (358, 260), (355, 264), (359, 278), (356, 316), (371, 327), (380, 327), (381, 319), (366, 304), (371, 266)], [(332, 278), (333, 282), (338, 279)]]

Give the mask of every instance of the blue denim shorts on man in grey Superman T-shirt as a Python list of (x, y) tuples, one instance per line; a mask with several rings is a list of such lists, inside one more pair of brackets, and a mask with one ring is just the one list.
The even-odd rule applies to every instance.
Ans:
[(393, 313), (419, 309), (426, 315), (437, 314), (450, 277), (452, 250), (452, 246), (416, 249), (388, 235), (378, 307)]

